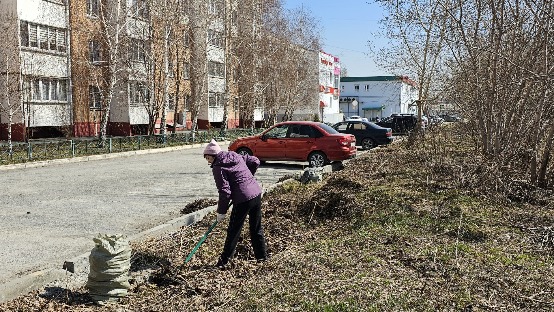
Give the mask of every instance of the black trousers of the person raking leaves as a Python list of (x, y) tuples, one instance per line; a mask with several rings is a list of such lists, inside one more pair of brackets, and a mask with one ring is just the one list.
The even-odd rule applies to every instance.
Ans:
[(229, 218), (229, 227), (227, 227), (227, 238), (223, 253), (219, 256), (218, 265), (225, 265), (235, 255), (235, 249), (240, 238), (246, 216), (248, 215), (250, 223), (250, 240), (254, 255), (258, 261), (268, 260), (265, 251), (264, 229), (261, 228), (261, 194), (244, 203), (233, 207), (233, 212)]

